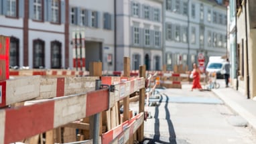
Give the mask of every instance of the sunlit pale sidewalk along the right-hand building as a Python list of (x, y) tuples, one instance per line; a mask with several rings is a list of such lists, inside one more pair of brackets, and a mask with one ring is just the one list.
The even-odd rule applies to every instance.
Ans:
[(247, 99), (232, 87), (225, 88), (224, 82), (220, 81), (220, 88), (212, 89), (220, 99), (225, 102), (235, 113), (243, 117), (249, 126), (256, 131), (256, 101)]

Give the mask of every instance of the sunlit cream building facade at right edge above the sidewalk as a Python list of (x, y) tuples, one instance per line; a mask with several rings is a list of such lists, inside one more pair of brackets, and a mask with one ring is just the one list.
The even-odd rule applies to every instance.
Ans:
[[(255, 1), (233, 1), (237, 13), (237, 89), (247, 98), (256, 96)], [(231, 5), (230, 5), (231, 6)], [(235, 79), (234, 79), (235, 81)]]

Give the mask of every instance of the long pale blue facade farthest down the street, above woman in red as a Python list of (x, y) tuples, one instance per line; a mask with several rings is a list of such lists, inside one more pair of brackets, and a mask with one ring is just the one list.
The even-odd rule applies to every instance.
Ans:
[(227, 52), (227, 8), (222, 1), (166, 0), (164, 53), (168, 70), (176, 64), (197, 62), (198, 55), (223, 56)]

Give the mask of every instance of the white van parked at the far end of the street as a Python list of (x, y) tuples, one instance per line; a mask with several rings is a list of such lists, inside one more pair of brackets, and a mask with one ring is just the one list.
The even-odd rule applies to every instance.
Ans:
[(206, 66), (206, 72), (216, 72), (217, 78), (224, 78), (221, 71), (224, 69), (225, 60), (218, 56), (212, 56), (209, 58), (209, 62)]

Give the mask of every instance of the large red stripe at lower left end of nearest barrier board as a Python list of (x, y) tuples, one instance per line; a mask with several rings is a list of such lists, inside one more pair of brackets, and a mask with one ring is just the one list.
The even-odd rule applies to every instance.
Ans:
[(54, 101), (42, 102), (19, 109), (7, 109), (5, 114), (5, 143), (20, 141), (53, 129)]

